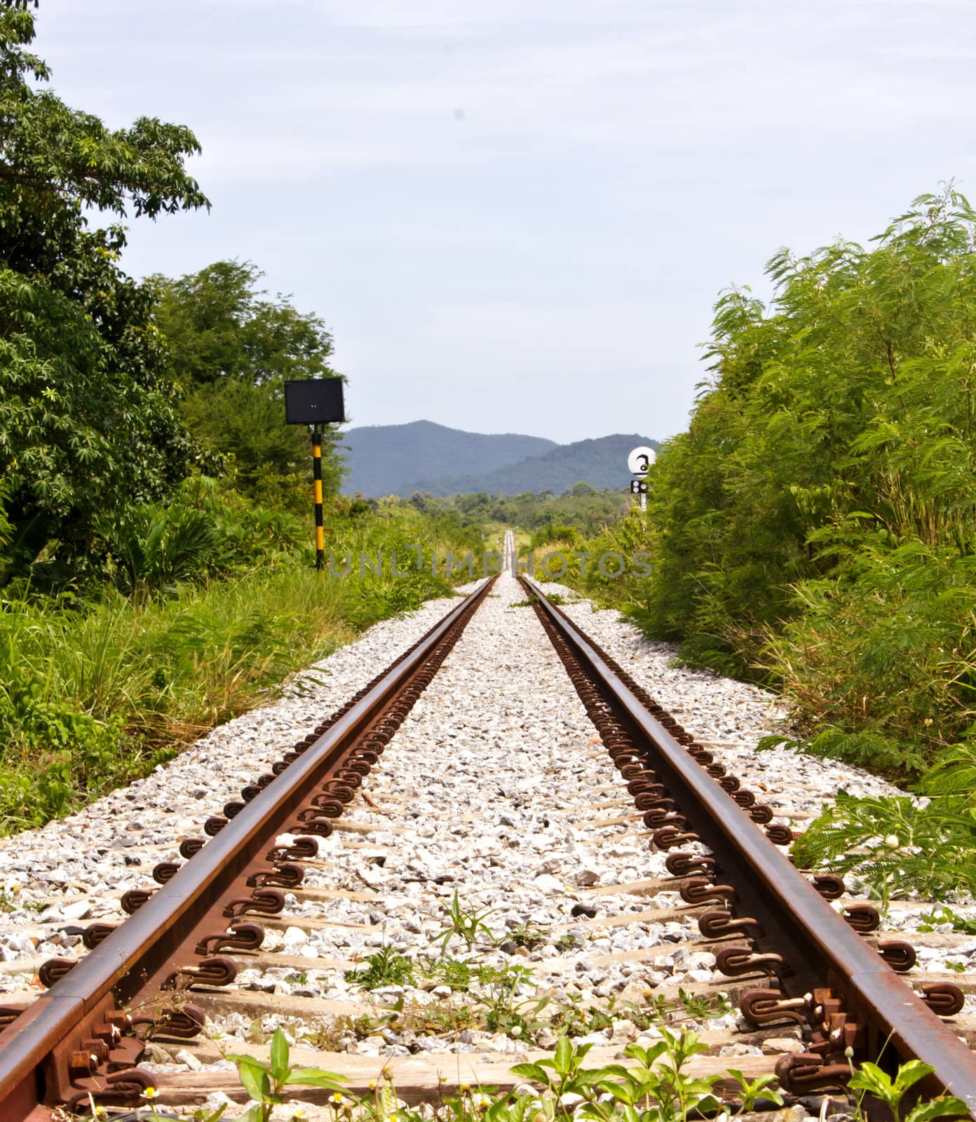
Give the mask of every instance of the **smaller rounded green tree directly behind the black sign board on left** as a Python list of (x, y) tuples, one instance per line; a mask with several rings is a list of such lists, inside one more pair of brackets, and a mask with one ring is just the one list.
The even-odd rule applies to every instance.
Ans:
[[(183, 415), (200, 445), (251, 498), (304, 505), (309, 435), (286, 425), (284, 383), (332, 376), (332, 337), (286, 296), (267, 298), (250, 263), (217, 261), (159, 286), (156, 322), (184, 388)], [(341, 481), (338, 432), (322, 447), (326, 494)]]

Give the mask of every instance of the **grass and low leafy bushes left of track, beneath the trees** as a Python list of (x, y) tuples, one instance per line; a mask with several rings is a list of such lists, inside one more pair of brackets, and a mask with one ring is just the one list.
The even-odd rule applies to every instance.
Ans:
[(332, 512), (337, 552), (388, 559), (396, 549), (406, 567), (422, 542), (423, 569), (315, 572), (295, 519), (196, 480), (182, 504), (113, 525), (88, 579), (57, 594), (26, 582), (0, 590), (0, 833), (148, 773), (363, 628), (453, 595), (431, 574), (431, 554), (477, 548), (470, 531), (397, 502), (349, 508)]

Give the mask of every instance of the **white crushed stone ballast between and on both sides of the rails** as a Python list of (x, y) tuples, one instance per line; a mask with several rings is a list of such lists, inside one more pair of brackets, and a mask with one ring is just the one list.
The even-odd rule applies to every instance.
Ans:
[[(545, 590), (577, 599), (560, 586), (547, 585)], [(587, 888), (667, 874), (664, 855), (650, 850), (648, 831), (639, 819), (597, 825), (633, 812), (633, 803), (623, 801), (620, 776), (601, 751), (534, 611), (512, 606), (523, 599), (522, 588), (503, 574), (367, 779), (365, 791), (379, 810), (361, 799), (347, 810), (342, 821), (376, 828), (368, 844), (365, 836), (357, 836), (353, 848), (348, 844), (351, 836), (343, 833), (320, 839), (319, 857), (331, 864), (310, 867), (304, 885), (367, 889), (378, 899), (320, 902), (287, 893), (287, 927), (269, 928), (265, 949), (307, 958), (307, 968), (243, 969), (236, 986), (349, 1002), (372, 1013), (400, 999), (406, 1006), (451, 1000), (450, 991), (432, 984), (387, 986), (370, 999), (347, 982), (344, 973), (351, 959), (361, 959), (384, 944), (415, 959), (436, 957), (434, 940), (444, 930), (445, 908), (455, 890), (464, 908), (490, 909), (487, 923), (499, 937), (526, 926), (561, 927), (525, 955), (517, 954), (513, 939), (505, 949), (482, 942), (477, 950), (481, 964), (516, 963), (533, 971), (534, 984), (519, 991), (526, 1000), (545, 992), (556, 1002), (586, 1005), (615, 997), (626, 1008), (628, 1001), (644, 1001), (648, 990), (712, 980), (712, 955), (682, 946), (700, 939), (691, 917), (635, 918), (619, 926), (590, 927), (572, 914)], [(448, 600), (431, 601), (409, 617), (376, 625), (300, 675), (276, 705), (215, 729), (146, 780), (42, 830), (0, 840), (0, 886), (8, 899), (16, 895), (43, 907), (39, 914), (20, 908), (2, 917), (0, 959), (70, 954), (77, 949), (80, 920), (117, 920), (122, 891), (151, 886), (153, 865), (178, 859), (176, 845), (182, 837), (199, 836), (209, 815), (238, 798), (245, 783), (267, 770), (451, 606)], [(803, 816), (818, 813), (838, 785), (854, 794), (894, 793), (883, 780), (835, 761), (785, 748), (755, 754), (759, 737), (783, 727), (785, 715), (772, 695), (673, 668), (673, 647), (647, 643), (616, 611), (593, 610), (586, 601), (565, 610), (689, 732), (706, 742), (721, 741), (717, 757), (773, 806), (777, 820), (788, 812), (802, 828)], [(323, 674), (325, 684), (320, 683)], [(147, 847), (155, 852), (147, 854)], [(606, 894), (587, 903), (599, 917), (613, 918), (666, 909), (680, 904), (680, 898), (672, 892)], [(367, 930), (304, 929), (303, 918), (363, 925)], [(908, 922), (911, 913), (899, 919)], [(601, 960), (608, 953), (652, 947), (662, 948), (662, 955), (651, 960)], [(968, 960), (974, 953), (976, 938), (972, 946), (927, 956), (924, 966), (941, 969), (946, 958)], [(468, 953), (455, 939), (451, 954), (457, 958)], [(24, 974), (0, 974), (0, 992), (24, 987)], [(303, 1023), (280, 1014), (261, 1022), (265, 1031), (286, 1022), (293, 1032)], [(730, 1013), (698, 1027), (729, 1029), (735, 1023)], [(210, 1024), (211, 1031), (224, 1034), (230, 1050), (249, 1027), (250, 1018), (241, 1013), (217, 1017)], [(790, 1039), (789, 1033), (781, 1034)], [(637, 1036), (636, 1026), (621, 1017), (613, 1028), (581, 1039), (606, 1045)], [(543, 1030), (535, 1042), (546, 1046), (550, 1037)], [(518, 1057), (532, 1041), (473, 1029), (426, 1037), (385, 1028), (366, 1040), (347, 1032), (341, 1043), (349, 1051), (376, 1056), (455, 1051)]]

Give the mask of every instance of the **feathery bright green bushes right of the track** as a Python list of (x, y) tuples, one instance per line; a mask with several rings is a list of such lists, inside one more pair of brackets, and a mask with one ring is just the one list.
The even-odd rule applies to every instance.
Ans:
[(948, 186), (868, 247), (780, 250), (768, 306), (721, 295), (629, 590), (684, 660), (781, 687), (814, 749), (902, 775), (976, 716), (974, 237)]

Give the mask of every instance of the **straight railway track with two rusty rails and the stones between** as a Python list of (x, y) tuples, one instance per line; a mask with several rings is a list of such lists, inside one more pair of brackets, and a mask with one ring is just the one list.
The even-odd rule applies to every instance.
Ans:
[[(507, 540), (509, 558), (512, 549)], [(125, 922), (90, 925), (86, 954), (27, 964), (48, 988), (36, 1000), (0, 999), (9, 1001), (0, 1010), (4, 1122), (39, 1122), (90, 1094), (131, 1104), (150, 1085), (177, 1104), (233, 1094), (214, 1030), (241, 1051), (234, 1033), (247, 1021), (283, 1023), (300, 1041), (304, 1029), (306, 1043), (315, 1026), (303, 1061), (344, 1070), (353, 1091), (385, 1065), (413, 1101), (434, 1094), (445, 1073), (454, 1085), (514, 1086), (509, 1061), (544, 1052), (559, 1031), (607, 1059), (653, 1034), (641, 1006), (655, 997), (657, 1017), (700, 1022), (712, 1054), (702, 1070), (775, 1069), (809, 1103), (841, 1093), (848, 1052), (888, 1064), (914, 1057), (934, 1068), (928, 1092), (949, 1088), (974, 1111), (976, 1064), (959, 1034), (976, 1037), (976, 1026), (963, 988), (920, 971), (913, 948), (886, 936), (874, 909), (848, 899), (836, 877), (793, 868), (781, 852), (790, 828), (712, 748), (537, 587), (523, 581), (534, 616), (517, 611), (516, 588), (507, 576), (478, 588), (240, 800), (202, 821), (200, 836), (179, 839), (182, 865), (172, 844), (162, 846), (156, 886), (120, 896), (131, 913)], [(490, 665), (484, 646), (464, 653), (466, 628), (494, 644)], [(521, 645), (508, 649), (506, 628)], [(518, 659), (530, 642), (532, 665)], [(505, 692), (526, 674), (543, 675), (545, 688), (527, 699)], [(479, 691), (500, 724), (479, 718), (452, 742), (459, 696)], [(441, 734), (450, 751), (424, 763)], [(543, 756), (547, 738), (558, 745)], [(448, 789), (442, 779), (454, 773), (461, 782)], [(470, 852), (452, 859), (455, 837)], [(625, 864), (628, 876), (601, 876), (592, 854)], [(516, 856), (535, 862), (527, 890)], [(455, 923), (448, 958), (481, 981), (459, 982), (444, 956), (421, 950), (443, 934), (444, 947), (451, 942), (451, 901), (475, 931), (462, 953)], [(487, 918), (478, 930), (477, 917), (490, 910), (482, 904), (507, 939), (487, 939)], [(387, 947), (406, 960), (426, 955), (423, 982), (349, 983)], [(525, 1006), (542, 1001), (552, 1030), (533, 1026), (530, 1036)], [(626, 1015), (614, 1015), (615, 1003)], [(471, 1004), (481, 1012), (469, 1010), (462, 1026), (450, 1011)], [(598, 1028), (601, 1005), (610, 1023)], [(330, 1018), (339, 1028), (326, 1032)], [(250, 1045), (267, 1050), (266, 1041)]]

